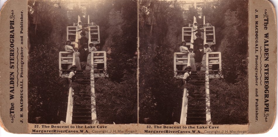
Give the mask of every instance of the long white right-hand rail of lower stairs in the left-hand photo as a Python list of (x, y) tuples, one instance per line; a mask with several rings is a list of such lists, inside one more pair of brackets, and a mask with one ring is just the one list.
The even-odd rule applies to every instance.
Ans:
[[(92, 110), (92, 120), (97, 120), (97, 109), (96, 109), (96, 100), (95, 100), (95, 77), (94, 77), (94, 52), (91, 52), (91, 110)], [(92, 124), (98, 124), (98, 121), (95, 121)]]

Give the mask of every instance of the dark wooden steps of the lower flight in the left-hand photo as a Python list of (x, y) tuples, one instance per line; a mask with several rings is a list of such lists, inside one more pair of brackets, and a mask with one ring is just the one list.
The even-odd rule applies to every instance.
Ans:
[[(78, 84), (81, 84), (80, 87), (90, 85), (90, 76), (84, 75), (82, 70), (76, 71), (76, 75), (78, 78)], [(74, 89), (73, 96), (72, 124), (91, 124), (91, 92), (83, 90), (78, 91), (77, 89)]]

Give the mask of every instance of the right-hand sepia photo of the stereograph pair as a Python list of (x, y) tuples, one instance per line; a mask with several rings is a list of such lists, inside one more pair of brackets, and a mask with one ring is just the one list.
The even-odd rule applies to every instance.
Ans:
[(139, 1), (139, 124), (248, 124), (248, 0)]

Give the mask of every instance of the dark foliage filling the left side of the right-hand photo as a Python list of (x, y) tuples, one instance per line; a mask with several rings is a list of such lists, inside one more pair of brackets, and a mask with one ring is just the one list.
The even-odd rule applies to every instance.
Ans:
[[(173, 51), (181, 41), (182, 12), (165, 1), (140, 1), (139, 7), (139, 123), (172, 124), (178, 121), (182, 86), (173, 78)], [(152, 17), (155, 22), (148, 22)], [(173, 107), (175, 106), (175, 107)]]

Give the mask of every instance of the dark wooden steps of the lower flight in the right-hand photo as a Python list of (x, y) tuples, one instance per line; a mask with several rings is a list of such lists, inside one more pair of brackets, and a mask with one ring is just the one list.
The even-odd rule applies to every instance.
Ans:
[(205, 75), (198, 76), (196, 71), (191, 72), (191, 84), (200, 89), (199, 91), (188, 91), (188, 108), (186, 124), (206, 123), (206, 98), (205, 98)]

